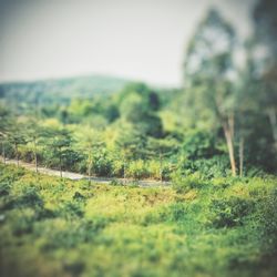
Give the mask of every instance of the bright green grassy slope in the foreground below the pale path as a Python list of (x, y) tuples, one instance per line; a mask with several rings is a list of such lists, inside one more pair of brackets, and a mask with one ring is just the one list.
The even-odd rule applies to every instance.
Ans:
[(277, 182), (245, 182), (179, 192), (90, 186), (0, 164), (0, 268), (29, 277), (275, 276)]

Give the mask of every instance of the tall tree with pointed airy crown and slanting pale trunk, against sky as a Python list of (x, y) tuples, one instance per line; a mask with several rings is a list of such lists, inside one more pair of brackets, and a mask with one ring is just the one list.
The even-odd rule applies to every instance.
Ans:
[(198, 119), (209, 117), (214, 124), (222, 126), (233, 176), (237, 172), (234, 150), (235, 99), (232, 83), (235, 71), (232, 57), (234, 47), (235, 32), (232, 25), (216, 10), (211, 10), (188, 44), (184, 64), (187, 109), (195, 109)]

